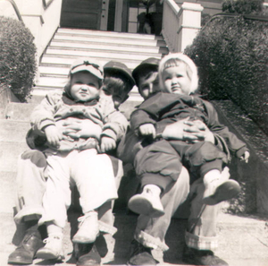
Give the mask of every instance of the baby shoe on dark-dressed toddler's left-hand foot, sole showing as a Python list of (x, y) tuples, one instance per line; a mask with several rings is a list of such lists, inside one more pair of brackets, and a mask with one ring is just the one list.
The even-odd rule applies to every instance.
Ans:
[(154, 186), (146, 185), (141, 194), (131, 197), (128, 203), (130, 210), (152, 218), (163, 216), (163, 205), (160, 201), (161, 190), (157, 187), (159, 191), (155, 191)]

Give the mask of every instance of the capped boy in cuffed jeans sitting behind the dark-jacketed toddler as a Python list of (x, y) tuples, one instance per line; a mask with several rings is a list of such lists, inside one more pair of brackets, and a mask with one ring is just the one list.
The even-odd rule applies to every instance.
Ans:
[[(160, 91), (159, 61), (157, 58), (147, 58), (132, 72), (138, 91), (144, 100), (150, 99)], [(162, 127), (161, 133), (164, 140), (214, 142), (219, 149), (229, 153), (227, 143), (223, 138), (217, 133), (212, 133), (201, 121), (179, 120)], [(140, 141), (135, 133), (127, 133), (118, 147), (120, 158), (125, 163), (133, 164), (138, 152), (144, 149), (143, 144), (146, 145), (147, 142)], [(173, 167), (174, 159), (178, 160), (177, 152), (172, 152), (171, 155), (172, 159), (166, 161), (166, 169)], [(229, 177), (229, 168), (224, 167), (222, 178), (227, 180)], [(203, 179), (192, 180), (187, 169), (182, 167), (180, 176), (161, 195), (163, 216), (158, 218), (151, 218), (143, 214), (138, 216), (134, 239), (130, 245), (128, 263), (130, 265), (156, 265), (158, 262), (155, 260), (152, 250), (165, 252), (169, 249), (165, 244), (165, 235), (172, 217), (187, 217), (183, 262), (193, 265), (228, 265), (214, 254), (218, 246), (216, 226), (221, 204), (205, 205), (202, 202), (204, 191)], [(189, 208), (189, 215), (185, 214), (185, 208)]]

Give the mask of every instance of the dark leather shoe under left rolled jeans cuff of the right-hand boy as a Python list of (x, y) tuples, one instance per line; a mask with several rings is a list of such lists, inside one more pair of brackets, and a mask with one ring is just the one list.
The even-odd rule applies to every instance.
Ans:
[(150, 248), (141, 245), (135, 239), (131, 242), (128, 265), (156, 265), (157, 263)]

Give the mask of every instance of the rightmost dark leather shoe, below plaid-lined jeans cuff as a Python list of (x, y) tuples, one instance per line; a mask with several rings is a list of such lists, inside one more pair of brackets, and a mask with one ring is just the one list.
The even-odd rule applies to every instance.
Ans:
[(210, 250), (197, 250), (184, 246), (182, 261), (192, 265), (214, 265), (228, 266), (221, 258), (214, 255)]

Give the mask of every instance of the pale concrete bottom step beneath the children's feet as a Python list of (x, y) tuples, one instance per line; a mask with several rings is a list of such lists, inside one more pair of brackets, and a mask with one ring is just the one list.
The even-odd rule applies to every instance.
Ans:
[[(104, 256), (102, 262), (104, 265), (126, 264), (136, 219), (136, 215), (127, 215), (125, 210), (116, 210), (115, 227), (118, 228), (118, 232), (113, 237), (99, 236), (96, 242), (99, 253)], [(154, 251), (155, 259), (160, 262), (159, 265), (185, 265), (181, 261), (181, 255), (186, 223), (186, 219), (172, 219), (166, 236), (166, 244), (170, 246), (170, 250), (164, 254)], [(0, 224), (0, 265), (4, 266), (7, 265), (8, 255), (15, 249), (12, 244), (15, 231), (13, 215), (1, 213)], [(215, 254), (230, 266), (268, 266), (267, 230), (268, 218), (239, 217), (221, 213), (218, 224), (219, 248)], [(54, 264), (35, 260), (32, 265), (75, 265), (75, 262), (70, 261), (72, 245), (69, 224), (64, 230), (63, 243), (66, 257), (64, 262)]]

